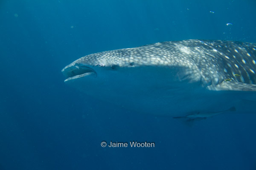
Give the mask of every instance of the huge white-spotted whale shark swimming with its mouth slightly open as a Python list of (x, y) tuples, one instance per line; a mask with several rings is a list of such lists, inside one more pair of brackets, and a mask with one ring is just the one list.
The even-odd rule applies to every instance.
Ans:
[(90, 54), (62, 73), (88, 99), (134, 112), (189, 120), (256, 113), (256, 43), (157, 42)]

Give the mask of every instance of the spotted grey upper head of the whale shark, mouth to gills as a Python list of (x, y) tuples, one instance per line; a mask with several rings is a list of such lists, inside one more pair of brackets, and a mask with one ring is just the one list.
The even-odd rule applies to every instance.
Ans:
[[(90, 54), (81, 57), (63, 68), (63, 74), (68, 77), (65, 81), (78, 79), (88, 75), (93, 77), (101, 76), (102, 72), (115, 74), (115, 72), (133, 71), (140, 69), (177, 69), (189, 68), (193, 71), (194, 76), (191, 79), (198, 79), (200, 73), (198, 68), (193, 64), (192, 59), (181, 57), (172, 51), (161, 49), (162, 44), (145, 45), (138, 48), (126, 48), (113, 51), (104, 51), (96, 54)], [(181, 54), (180, 54), (181, 55)], [(153, 72), (150, 71), (150, 74)], [(145, 72), (140, 75), (145, 76)], [(162, 73), (161, 73), (162, 74)], [(169, 73), (168, 73), (169, 74)], [(196, 78), (195, 78), (196, 77)]]

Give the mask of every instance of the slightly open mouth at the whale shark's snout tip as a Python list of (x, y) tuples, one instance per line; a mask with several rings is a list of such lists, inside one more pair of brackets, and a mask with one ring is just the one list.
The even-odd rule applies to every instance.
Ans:
[(97, 77), (97, 73), (95, 70), (84, 65), (83, 66), (77, 66), (77, 65), (67, 66), (62, 69), (62, 73), (64, 74), (65, 77), (67, 77), (67, 79), (65, 79), (64, 82), (72, 79), (86, 77), (86, 76), (93, 76), (94, 78)]

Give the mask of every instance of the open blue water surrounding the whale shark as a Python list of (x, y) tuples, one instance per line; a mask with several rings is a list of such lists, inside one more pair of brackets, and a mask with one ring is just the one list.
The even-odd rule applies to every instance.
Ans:
[[(185, 125), (92, 99), (61, 74), (84, 55), (154, 42), (256, 42), (255, 9), (255, 0), (1, 0), (0, 170), (255, 170), (256, 115)], [(101, 147), (133, 140), (155, 147)]]

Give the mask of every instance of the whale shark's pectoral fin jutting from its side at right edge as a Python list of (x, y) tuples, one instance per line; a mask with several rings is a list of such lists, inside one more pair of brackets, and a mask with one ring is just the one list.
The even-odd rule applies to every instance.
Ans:
[(215, 87), (208, 86), (208, 89), (216, 91), (256, 91), (256, 84), (247, 84), (226, 79)]

